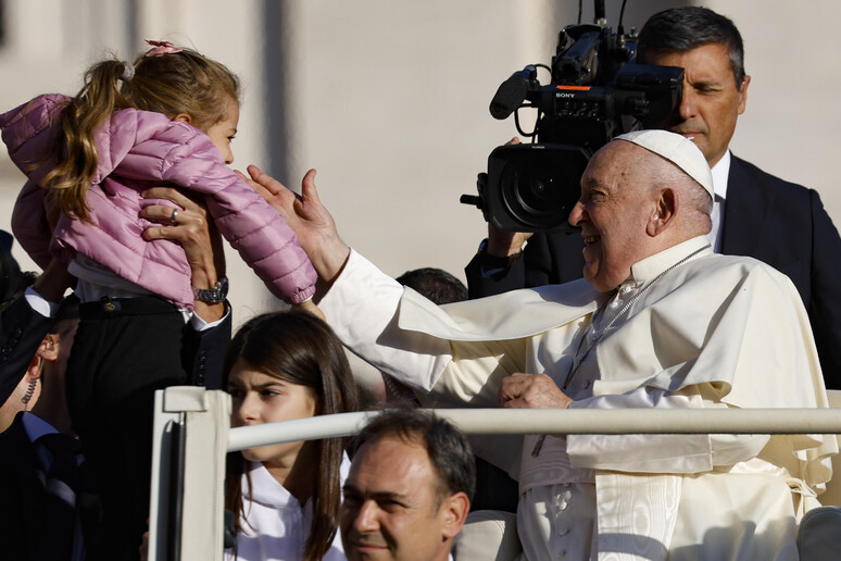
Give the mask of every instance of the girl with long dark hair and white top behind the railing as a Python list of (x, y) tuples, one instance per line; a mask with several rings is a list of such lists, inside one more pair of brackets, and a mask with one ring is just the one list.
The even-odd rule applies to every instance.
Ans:
[[(225, 358), (231, 426), (356, 409), (356, 389), (332, 331), (301, 311), (254, 317)], [(337, 535), (344, 439), (264, 446), (228, 454), (226, 508), (237, 514), (228, 559), (343, 560)], [(280, 536), (280, 537), (278, 537)]]

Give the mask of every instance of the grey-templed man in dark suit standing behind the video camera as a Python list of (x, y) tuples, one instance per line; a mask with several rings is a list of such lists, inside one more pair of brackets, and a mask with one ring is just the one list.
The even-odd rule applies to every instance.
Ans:
[[(756, 258), (791, 278), (808, 311), (826, 385), (841, 388), (841, 238), (817, 191), (730, 153), (751, 82), (743, 58), (733, 23), (704, 8), (660, 12), (640, 32), (640, 62), (685, 70), (680, 105), (656, 128), (691, 138), (713, 170), (714, 250)], [(580, 278), (583, 245), (577, 233), (530, 236), (491, 226), (465, 269), (469, 297)]]

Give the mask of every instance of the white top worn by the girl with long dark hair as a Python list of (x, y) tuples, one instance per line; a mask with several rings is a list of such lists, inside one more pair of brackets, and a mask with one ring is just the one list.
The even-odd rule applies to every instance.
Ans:
[[(340, 477), (343, 483), (350, 471), (348, 456), (342, 457)], [(249, 462), (252, 487), (242, 475), (242, 497), (249, 490), (252, 500), (246, 504), (246, 516), (240, 516), (242, 532), (237, 535), (237, 554), (225, 552), (226, 560), (292, 561), (303, 557), (306, 537), (313, 520), (313, 503), (301, 503), (275, 479), (260, 462)], [(346, 561), (341, 536), (336, 533), (332, 546), (324, 561)]]

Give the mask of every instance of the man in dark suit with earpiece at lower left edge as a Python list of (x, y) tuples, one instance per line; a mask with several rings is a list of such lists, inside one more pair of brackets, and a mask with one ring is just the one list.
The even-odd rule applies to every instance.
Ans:
[[(64, 399), (77, 324), (78, 300), (71, 297), (26, 366), (20, 383), (29, 388), (26, 399), (14, 399), (23, 392), (18, 390), (0, 407), (17, 411), (0, 433), (0, 541), (9, 559), (80, 560), (96, 539), (99, 503), (91, 486), (78, 483), (81, 457)], [(58, 459), (61, 453), (68, 454), (64, 464)]]

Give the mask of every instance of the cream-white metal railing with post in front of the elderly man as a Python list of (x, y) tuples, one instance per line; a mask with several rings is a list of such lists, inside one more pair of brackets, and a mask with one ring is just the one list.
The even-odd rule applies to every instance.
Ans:
[[(172, 398), (170, 396), (172, 395)], [(214, 399), (209, 399), (209, 396)], [(230, 401), (197, 387), (159, 391), (149, 561), (221, 560), (226, 452), (359, 433), (377, 412), (342, 413), (229, 428)], [(841, 409), (437, 409), (474, 435), (841, 434)], [(211, 437), (209, 437), (209, 435)], [(216, 435), (216, 438), (212, 438)], [(218, 435), (223, 435), (219, 437)], [(224, 435), (227, 435), (225, 437)], [(177, 436), (177, 438), (176, 438)], [(222, 464), (222, 476), (219, 465)], [(173, 466), (184, 471), (173, 476)], [(206, 473), (216, 476), (208, 483)], [(203, 485), (196, 485), (203, 481)], [(192, 484), (192, 485), (190, 485)], [(180, 502), (172, 508), (171, 501)], [(189, 509), (181, 506), (189, 506)], [(179, 512), (196, 520), (173, 520)], [(175, 513), (175, 514), (174, 514)], [(178, 528), (178, 535), (172, 531)], [(184, 535), (181, 535), (184, 533)]]

